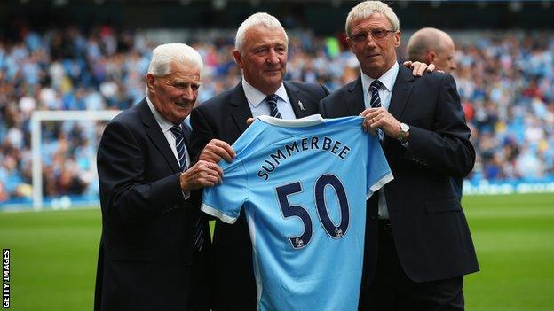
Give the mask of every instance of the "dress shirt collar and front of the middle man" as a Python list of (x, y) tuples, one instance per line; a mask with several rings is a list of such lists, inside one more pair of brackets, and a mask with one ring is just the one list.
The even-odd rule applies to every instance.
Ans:
[[(260, 115), (270, 115), (271, 110), (269, 109), (269, 104), (265, 102), (265, 97), (267, 97), (267, 95), (251, 86), (249, 82), (244, 80), (244, 78), (242, 78), (242, 89), (244, 89), (244, 95), (246, 96), (246, 100), (249, 103), (250, 111), (252, 112), (252, 116), (254, 118), (257, 118)], [(285, 85), (282, 82), (279, 89), (275, 92), (275, 95), (277, 95), (277, 109), (279, 109), (282, 119), (297, 119), (297, 116), (290, 105), (287, 89), (285, 89)]]

